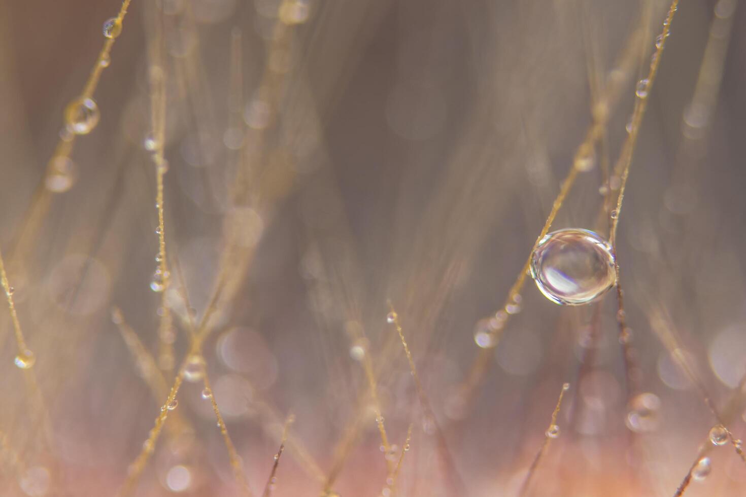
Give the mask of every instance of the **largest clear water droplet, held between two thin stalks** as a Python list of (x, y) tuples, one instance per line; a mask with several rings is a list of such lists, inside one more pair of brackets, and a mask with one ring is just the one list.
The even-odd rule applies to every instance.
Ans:
[(531, 276), (549, 300), (580, 306), (598, 299), (616, 282), (609, 242), (587, 229), (560, 229), (539, 241)]

